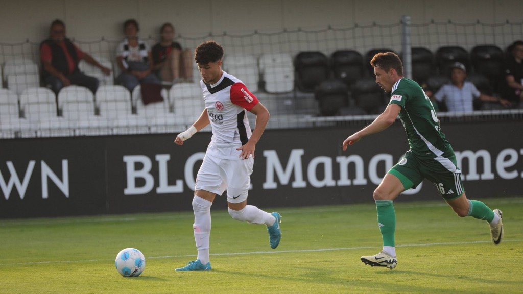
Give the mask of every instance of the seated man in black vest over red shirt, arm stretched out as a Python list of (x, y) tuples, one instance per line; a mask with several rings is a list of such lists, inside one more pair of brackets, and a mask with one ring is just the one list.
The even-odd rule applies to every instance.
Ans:
[(105, 74), (111, 70), (99, 64), (91, 55), (78, 49), (71, 40), (65, 37), (65, 24), (56, 19), (51, 23), (49, 39), (40, 44), (40, 60), (42, 61), (42, 81), (55, 94), (69, 85), (79, 85), (90, 89), (93, 93), (98, 88), (98, 79), (88, 76), (78, 69), (81, 60), (93, 64)]

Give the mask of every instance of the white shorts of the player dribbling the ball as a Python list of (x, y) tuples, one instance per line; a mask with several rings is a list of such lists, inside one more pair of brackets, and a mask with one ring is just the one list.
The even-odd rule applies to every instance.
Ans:
[(240, 203), (247, 199), (254, 159), (220, 159), (206, 154), (196, 175), (196, 190), (222, 195), (227, 190), (227, 201)]

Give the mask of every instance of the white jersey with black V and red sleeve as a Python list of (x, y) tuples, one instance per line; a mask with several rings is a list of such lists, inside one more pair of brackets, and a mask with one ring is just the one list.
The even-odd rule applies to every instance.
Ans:
[(221, 159), (240, 160), (238, 156), (242, 151), (236, 148), (251, 138), (247, 111), (259, 102), (258, 99), (242, 81), (226, 72), (216, 84), (206, 84), (201, 80), (200, 86), (212, 127), (207, 153)]

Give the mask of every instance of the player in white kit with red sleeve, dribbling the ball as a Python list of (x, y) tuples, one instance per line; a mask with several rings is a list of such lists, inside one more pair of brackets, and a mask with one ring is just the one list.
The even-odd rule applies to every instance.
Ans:
[[(196, 48), (195, 60), (202, 76), (200, 86), (206, 108), (200, 118), (174, 140), (176, 144), (183, 145), (197, 131), (211, 124), (211, 142), (196, 176), (195, 196), (192, 199), (198, 257), (196, 261), (176, 270), (211, 269), (211, 206), (214, 197), (222, 195), (225, 189), (229, 214), (233, 219), (265, 224), (271, 248), (276, 248), (281, 239), (280, 214), (247, 205), (254, 150), (269, 120), (269, 111), (242, 81), (222, 71), (222, 57), (223, 48), (214, 41), (203, 42)], [(247, 111), (256, 116), (254, 131), (249, 126)]]

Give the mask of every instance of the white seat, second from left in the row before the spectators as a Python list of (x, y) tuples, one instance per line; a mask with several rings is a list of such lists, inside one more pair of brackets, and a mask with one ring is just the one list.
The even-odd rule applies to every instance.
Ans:
[(27, 88), (20, 95), (20, 110), (35, 123), (56, 117), (56, 96), (49, 88)]

